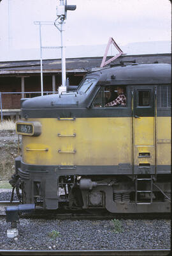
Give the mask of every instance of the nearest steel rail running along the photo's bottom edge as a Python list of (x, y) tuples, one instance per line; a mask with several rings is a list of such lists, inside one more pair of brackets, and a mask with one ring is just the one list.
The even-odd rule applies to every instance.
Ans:
[(0, 250), (1, 256), (43, 256), (43, 255), (60, 255), (60, 256), (164, 256), (171, 252), (168, 249), (160, 250), (47, 250), (47, 251), (33, 251), (33, 250)]

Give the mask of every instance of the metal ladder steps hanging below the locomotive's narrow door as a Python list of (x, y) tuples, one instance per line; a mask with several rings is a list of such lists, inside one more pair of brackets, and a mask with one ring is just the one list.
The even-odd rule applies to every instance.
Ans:
[[(152, 201), (154, 198), (154, 194), (152, 191), (153, 182), (154, 182), (153, 175), (147, 175), (147, 176), (136, 175), (136, 179), (135, 179), (136, 204), (143, 204), (143, 205), (152, 204)], [(149, 189), (147, 189), (147, 186), (149, 186)], [(140, 196), (138, 196), (138, 194), (140, 194)]]

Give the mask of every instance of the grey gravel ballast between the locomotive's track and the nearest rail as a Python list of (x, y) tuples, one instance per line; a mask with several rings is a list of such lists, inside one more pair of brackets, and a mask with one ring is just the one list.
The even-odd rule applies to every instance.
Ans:
[[(0, 200), (10, 197), (10, 190), (0, 190)], [(136, 250), (171, 246), (170, 220), (21, 218), (18, 237), (8, 238), (10, 225), (5, 217), (0, 218), (0, 250)]]

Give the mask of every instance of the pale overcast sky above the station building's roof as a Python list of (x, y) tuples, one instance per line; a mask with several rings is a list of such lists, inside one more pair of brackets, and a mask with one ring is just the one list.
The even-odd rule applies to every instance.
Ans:
[[(1, 60), (8, 52), (39, 48), (39, 26), (34, 21), (54, 22), (58, 1), (1, 1)], [(119, 46), (171, 40), (169, 0), (68, 0), (68, 4), (76, 4), (76, 10), (68, 11), (66, 47), (107, 44), (110, 36)], [(54, 25), (43, 25), (41, 31), (44, 46), (61, 45), (60, 32)]]

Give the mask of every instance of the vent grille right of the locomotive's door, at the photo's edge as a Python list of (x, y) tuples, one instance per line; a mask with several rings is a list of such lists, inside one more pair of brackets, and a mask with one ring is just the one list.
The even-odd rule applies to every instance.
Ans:
[(157, 107), (171, 108), (171, 86), (158, 86)]

